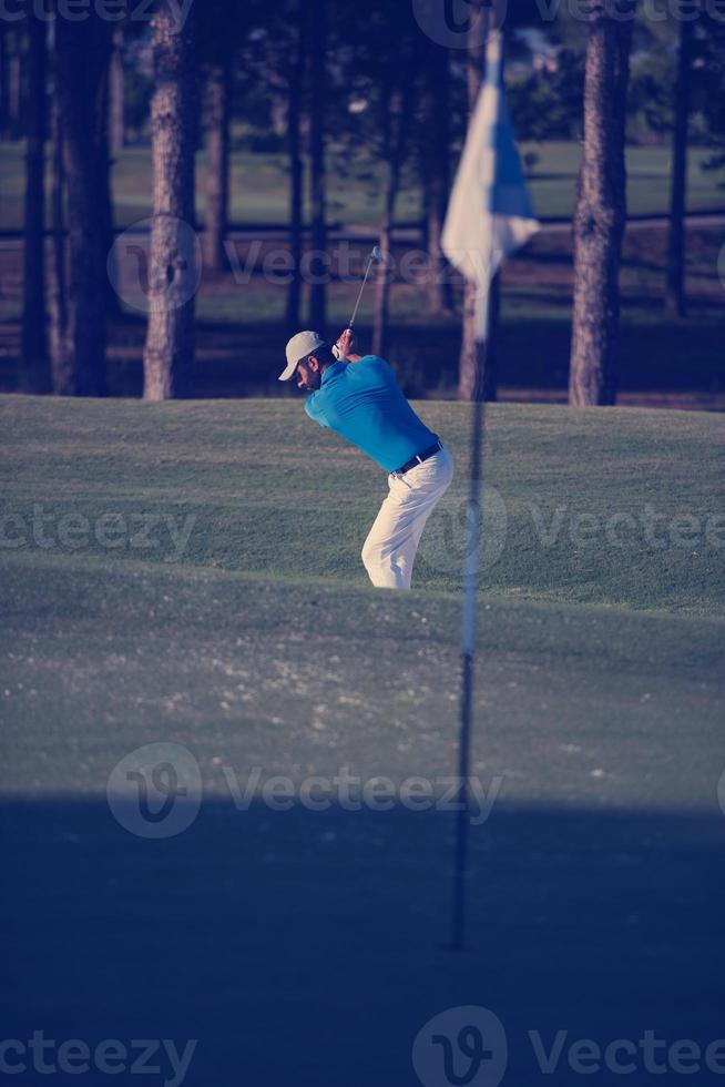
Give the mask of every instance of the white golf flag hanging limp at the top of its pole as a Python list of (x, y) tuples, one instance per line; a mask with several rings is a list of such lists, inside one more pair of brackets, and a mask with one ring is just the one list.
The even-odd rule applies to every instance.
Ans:
[(468, 126), (441, 236), (443, 252), (478, 285), (476, 336), (486, 338), (491, 280), (539, 230), (501, 87), (501, 34), (486, 47), (486, 79)]

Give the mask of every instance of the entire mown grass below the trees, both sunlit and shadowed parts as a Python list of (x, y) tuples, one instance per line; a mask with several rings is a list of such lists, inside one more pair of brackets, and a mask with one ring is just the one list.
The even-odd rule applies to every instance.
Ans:
[[(195, 1038), (193, 1087), (399, 1087), (476, 1004), (529, 1087), (581, 1080), (529, 1030), (722, 1036), (718, 416), (489, 412), (468, 952), (451, 813), (237, 810), (254, 768), (456, 771), (468, 408), (419, 409), (458, 475), (391, 596), (359, 562), (385, 476), (297, 400), (0, 403), (7, 1037)], [(152, 742), (204, 786), (161, 841), (105, 799)]]

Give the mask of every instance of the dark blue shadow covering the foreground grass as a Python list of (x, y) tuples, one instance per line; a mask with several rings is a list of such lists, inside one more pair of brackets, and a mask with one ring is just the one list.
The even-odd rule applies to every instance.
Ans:
[[(725, 1034), (715, 802), (703, 815), (494, 805), (471, 830), (462, 953), (443, 946), (452, 820), (241, 812), (221, 799), (151, 841), (105, 801), (6, 800), (3, 1037), (166, 1038), (180, 1050), (198, 1039), (187, 1087), (404, 1087), (418, 1083), (420, 1027), (473, 1004), (504, 1026), (504, 1083), (531, 1087), (581, 1081), (566, 1056), (575, 1039), (636, 1046), (653, 1030), (704, 1050)], [(555, 1076), (541, 1073), (530, 1030), (547, 1052), (568, 1032)], [(634, 1059), (633, 1081), (661, 1080)]]

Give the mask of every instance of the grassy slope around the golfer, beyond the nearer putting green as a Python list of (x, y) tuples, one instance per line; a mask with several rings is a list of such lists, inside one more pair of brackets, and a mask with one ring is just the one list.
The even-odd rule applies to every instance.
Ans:
[[(422, 546), (417, 583), (452, 592), (469, 409), (427, 402), (421, 412), (449, 443), (458, 470)], [(91, 521), (108, 512), (195, 518), (181, 555), (169, 540), (109, 550), (91, 539), (73, 548), (57, 542), (45, 558), (75, 565), (93, 557), (119, 568), (157, 560), (161, 569), (173, 561), (173, 569), (269, 580), (367, 583), (359, 548), (385, 476), (339, 437), (313, 427), (302, 403), (8, 398), (3, 416), (12, 512), (30, 518), (32, 505), (42, 504), (50, 526), (70, 511)], [(490, 408), (487, 484), (499, 512), (484, 588), (506, 598), (718, 613), (723, 439), (718, 416)], [(38, 548), (6, 555), (22, 563), (42, 557)]]

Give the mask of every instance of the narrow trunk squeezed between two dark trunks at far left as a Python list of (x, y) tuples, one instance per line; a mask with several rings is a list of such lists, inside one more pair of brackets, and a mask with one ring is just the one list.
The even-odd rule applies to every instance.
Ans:
[(72, 359), (68, 344), (68, 308), (65, 295), (65, 223), (63, 216), (63, 192), (65, 171), (63, 166), (63, 125), (58, 95), (52, 108), (52, 185), (51, 185), (51, 230), (53, 235), (53, 275), (50, 292), (50, 355), (53, 392), (63, 393), (72, 386)]

